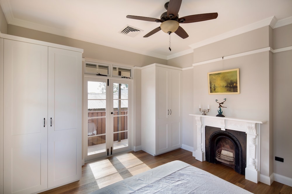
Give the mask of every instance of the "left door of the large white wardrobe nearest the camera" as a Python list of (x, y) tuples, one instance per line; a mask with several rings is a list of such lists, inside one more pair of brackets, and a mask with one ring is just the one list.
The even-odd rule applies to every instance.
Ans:
[(47, 188), (48, 47), (4, 39), (4, 193)]

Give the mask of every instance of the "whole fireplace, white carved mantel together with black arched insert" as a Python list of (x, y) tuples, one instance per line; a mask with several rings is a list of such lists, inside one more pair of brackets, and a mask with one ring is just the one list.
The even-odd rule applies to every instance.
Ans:
[[(239, 173), (241, 171), (242, 174), (245, 174), (245, 178), (247, 180), (258, 183), (260, 176), (260, 124), (265, 121), (216, 117), (209, 115), (190, 115), (194, 116), (196, 120), (196, 126), (194, 126), (194, 139), (197, 139), (197, 144), (194, 144), (194, 148), (197, 147), (197, 149), (193, 151), (193, 156), (199, 161), (210, 159), (211, 153), (209, 154), (209, 152), (211, 152), (211, 150), (209, 151), (209, 147), (208, 149), (206, 148), (207, 143), (205, 142), (206, 127), (207, 129), (208, 127), (215, 127), (217, 128), (215, 132), (213, 131), (211, 133), (215, 133), (212, 137), (215, 139), (215, 142), (210, 145), (213, 147), (211, 149), (212, 152), (214, 151), (213, 154), (215, 154), (215, 156), (212, 156), (211, 161), (216, 160), (215, 162), (224, 163), (225, 165), (231, 166), (235, 170), (237, 169), (237, 166), (241, 165), (241, 170), (239, 169)], [(237, 140), (234, 139), (234, 134), (232, 131), (243, 132), (245, 134), (244, 138), (246, 143), (241, 143), (240, 138), (235, 136), (241, 145), (240, 147)], [(237, 146), (238, 148), (236, 148)], [(242, 153), (240, 154), (240, 152)], [(216, 159), (216, 157), (218, 159)], [(237, 157), (239, 160), (240, 157), (242, 157), (242, 160), (238, 161)]]

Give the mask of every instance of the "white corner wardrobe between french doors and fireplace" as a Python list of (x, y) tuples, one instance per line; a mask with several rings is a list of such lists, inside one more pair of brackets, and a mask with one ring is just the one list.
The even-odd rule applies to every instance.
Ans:
[(160, 64), (141, 70), (141, 146), (154, 156), (182, 146), (181, 73)]

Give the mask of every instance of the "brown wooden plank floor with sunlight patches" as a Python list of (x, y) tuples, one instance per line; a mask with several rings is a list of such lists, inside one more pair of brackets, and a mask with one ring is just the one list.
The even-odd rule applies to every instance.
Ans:
[(144, 151), (128, 152), (106, 159), (86, 163), (82, 167), (82, 178), (65, 186), (54, 188), (44, 193), (91, 193), (125, 178), (145, 172), (161, 164), (181, 160), (197, 168), (203, 169), (232, 184), (246, 189), (252, 193), (291, 193), (292, 187), (273, 182), (271, 186), (259, 182), (258, 184), (248, 181), (244, 175), (240, 175), (232, 168), (221, 164), (197, 161), (192, 152), (184, 149), (176, 149), (165, 154), (152, 156)]

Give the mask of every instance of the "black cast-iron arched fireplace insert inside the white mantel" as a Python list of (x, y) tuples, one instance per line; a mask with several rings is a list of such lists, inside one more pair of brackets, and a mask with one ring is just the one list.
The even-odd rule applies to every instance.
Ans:
[(206, 161), (223, 164), (245, 175), (246, 133), (217, 127), (205, 127)]

